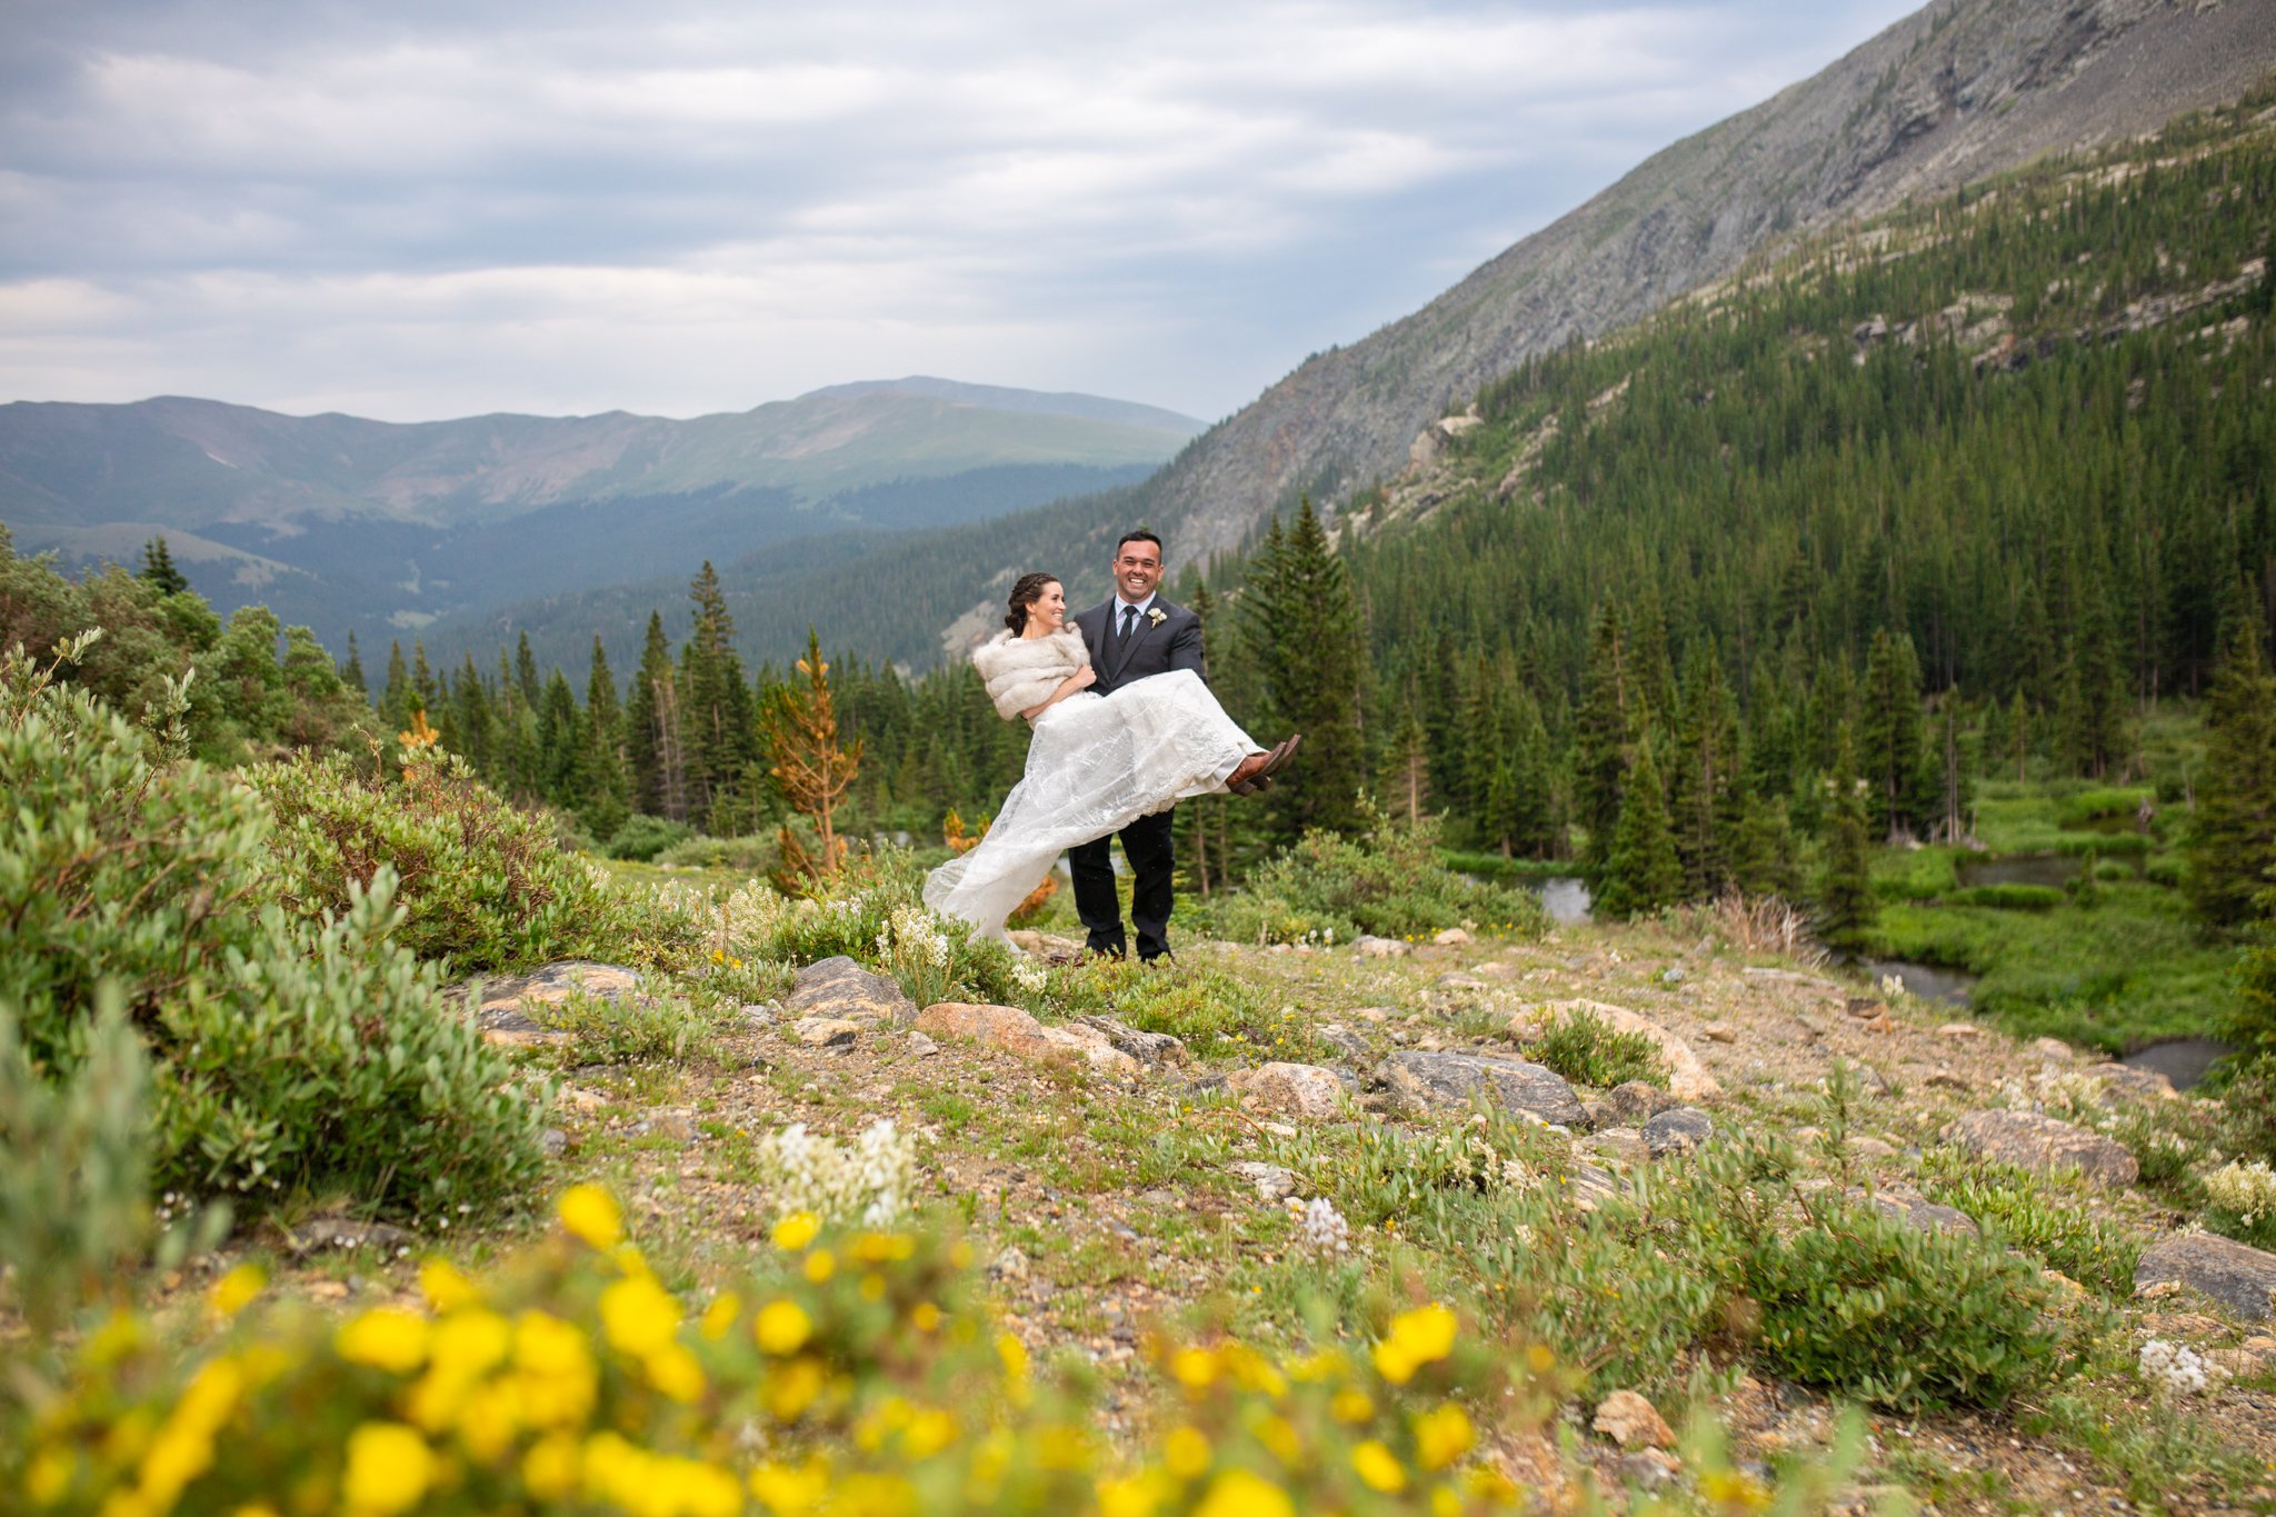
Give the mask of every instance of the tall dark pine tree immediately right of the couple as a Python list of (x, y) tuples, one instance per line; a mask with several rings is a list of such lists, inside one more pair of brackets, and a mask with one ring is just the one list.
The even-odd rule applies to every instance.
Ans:
[(1268, 796), (1275, 830), (1293, 842), (1309, 828), (1356, 828), (1359, 782), (1368, 773), (1359, 605), (1309, 496), (1290, 530), (1275, 521), (1265, 534), (1240, 614), (1275, 730), (1304, 735), (1302, 778)]

